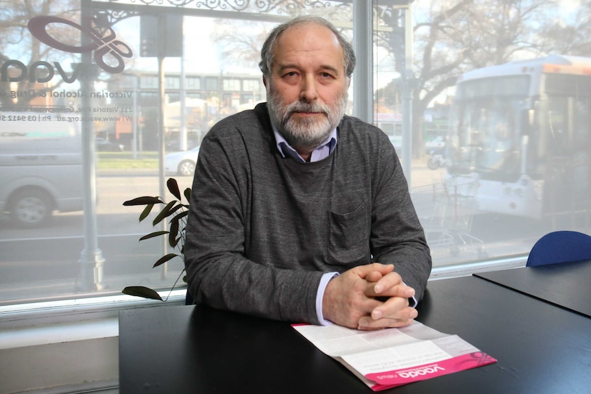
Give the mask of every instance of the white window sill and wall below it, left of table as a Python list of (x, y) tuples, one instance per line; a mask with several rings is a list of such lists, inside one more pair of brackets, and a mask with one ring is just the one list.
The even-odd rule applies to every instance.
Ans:
[(0, 394), (112, 392), (119, 311), (184, 304), (185, 294), (173, 291), (166, 302), (117, 295), (1, 307)]

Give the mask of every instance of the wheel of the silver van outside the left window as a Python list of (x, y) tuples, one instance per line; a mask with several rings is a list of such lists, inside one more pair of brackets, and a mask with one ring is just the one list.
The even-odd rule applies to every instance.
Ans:
[(20, 190), (11, 201), (10, 216), (21, 227), (38, 227), (51, 217), (51, 198), (43, 190)]

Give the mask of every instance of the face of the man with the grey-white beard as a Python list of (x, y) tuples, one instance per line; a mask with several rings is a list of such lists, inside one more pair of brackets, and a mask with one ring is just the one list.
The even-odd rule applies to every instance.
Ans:
[(337, 127), (347, 104), (343, 49), (335, 34), (315, 24), (287, 29), (265, 86), (281, 134), (298, 152), (312, 151)]

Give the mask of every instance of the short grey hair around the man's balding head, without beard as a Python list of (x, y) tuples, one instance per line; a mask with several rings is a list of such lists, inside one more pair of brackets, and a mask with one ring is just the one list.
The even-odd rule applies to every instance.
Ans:
[(273, 61), (275, 60), (274, 49), (281, 34), (283, 34), (290, 27), (304, 25), (306, 23), (315, 23), (317, 25), (328, 27), (328, 29), (330, 29), (330, 31), (333, 32), (335, 36), (337, 36), (341, 48), (343, 49), (345, 74), (347, 76), (347, 80), (350, 81), (351, 75), (353, 75), (353, 70), (355, 69), (355, 63), (357, 62), (357, 59), (355, 58), (355, 52), (353, 51), (353, 46), (350, 42), (348, 42), (347, 38), (343, 36), (339, 30), (337, 30), (335, 25), (326, 21), (324, 18), (311, 15), (298, 16), (295, 19), (291, 19), (289, 22), (282, 23), (281, 25), (274, 27), (271, 33), (269, 33), (269, 36), (267, 36), (267, 39), (263, 44), (263, 48), (261, 49), (261, 62), (258, 63), (258, 67), (261, 69), (261, 71), (263, 71), (263, 77), (268, 78), (271, 75)]

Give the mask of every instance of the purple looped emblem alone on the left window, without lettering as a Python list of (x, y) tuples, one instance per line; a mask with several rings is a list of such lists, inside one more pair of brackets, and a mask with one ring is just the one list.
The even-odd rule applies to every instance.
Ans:
[[(88, 45), (81, 45), (80, 47), (64, 44), (64, 42), (56, 40), (47, 33), (47, 25), (50, 23), (63, 23), (74, 27), (75, 29), (80, 30), (83, 34), (86, 34), (88, 38), (91, 38), (92, 42)], [(133, 56), (131, 48), (125, 44), (125, 42), (115, 39), (117, 36), (111, 27), (108, 27), (106, 32), (101, 34), (97, 29), (87, 29), (75, 22), (59, 18), (58, 16), (35, 16), (29, 20), (27, 27), (29, 28), (29, 32), (31, 32), (35, 38), (44, 44), (49, 45), (49, 47), (60, 51), (69, 53), (86, 53), (95, 51), (95, 62), (101, 69), (108, 73), (118, 74), (123, 72), (125, 69), (123, 58), (131, 58)], [(113, 58), (117, 64), (114, 66), (107, 64), (105, 61), (106, 56)]]

